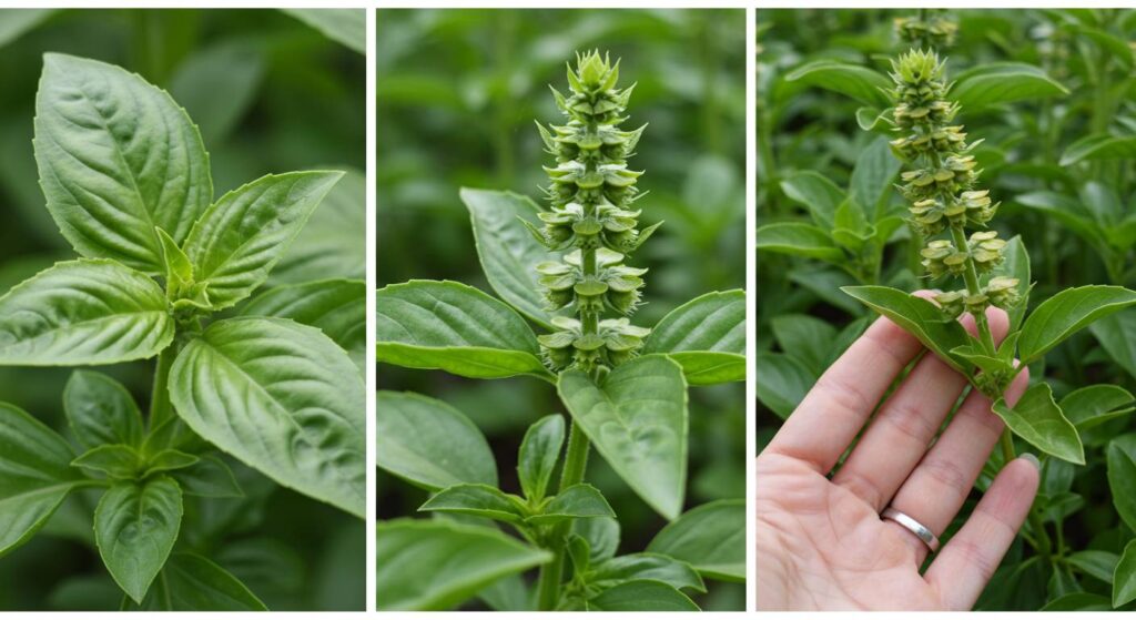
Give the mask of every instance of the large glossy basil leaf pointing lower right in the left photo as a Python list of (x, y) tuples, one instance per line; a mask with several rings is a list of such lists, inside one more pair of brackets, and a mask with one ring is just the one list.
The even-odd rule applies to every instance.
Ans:
[(214, 322), (174, 360), (169, 392), (181, 418), (217, 447), (365, 514), (362, 379), (318, 329), (270, 318)]

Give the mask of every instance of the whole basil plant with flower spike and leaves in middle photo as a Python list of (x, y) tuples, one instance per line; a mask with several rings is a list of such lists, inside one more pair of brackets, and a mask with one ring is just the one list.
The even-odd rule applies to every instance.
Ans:
[[(433, 280), (377, 293), (379, 362), (527, 376), (568, 413), (528, 428), (520, 487), (507, 489), (463, 413), (424, 395), (378, 394), (378, 466), (429, 491), (419, 510), (441, 516), (378, 525), (379, 609), (478, 596), (504, 610), (696, 610), (687, 594), (704, 592), (704, 579), (744, 579), (744, 502), (684, 512), (687, 388), (745, 378), (744, 293), (708, 293), (650, 328), (634, 321), (646, 269), (633, 255), (661, 223), (640, 221), (642, 173), (627, 159), (644, 127), (623, 127), (632, 87), (618, 82), (618, 62), (587, 52), (568, 69), (568, 92), (553, 89), (566, 123), (537, 124), (556, 160), (546, 208), (462, 190), (500, 299)], [(617, 516), (585, 478), (593, 450), (670, 521), (645, 552), (616, 554)], [(517, 578), (534, 568), (532, 586)], [(517, 596), (503, 597), (502, 584)]]

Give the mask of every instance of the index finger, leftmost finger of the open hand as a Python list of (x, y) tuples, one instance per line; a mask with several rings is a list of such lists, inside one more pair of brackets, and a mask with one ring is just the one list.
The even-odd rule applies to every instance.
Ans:
[(820, 376), (766, 451), (827, 475), (920, 351), (914, 336), (880, 317)]

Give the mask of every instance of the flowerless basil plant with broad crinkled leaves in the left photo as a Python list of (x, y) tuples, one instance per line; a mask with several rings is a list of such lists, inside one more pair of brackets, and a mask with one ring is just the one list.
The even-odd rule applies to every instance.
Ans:
[(195, 544), (244, 495), (231, 459), (365, 514), (364, 283), (253, 296), (282, 260), (307, 269), (290, 244), (343, 173), (268, 175), (215, 198), (198, 128), (165, 91), (57, 53), (44, 57), (34, 150), (78, 258), (0, 298), (0, 365), (152, 359), (153, 389), (143, 413), (116, 379), (75, 370), (66, 437), (0, 403), (0, 554), (68, 495), (94, 492), (94, 543), (124, 609), (264, 609)]

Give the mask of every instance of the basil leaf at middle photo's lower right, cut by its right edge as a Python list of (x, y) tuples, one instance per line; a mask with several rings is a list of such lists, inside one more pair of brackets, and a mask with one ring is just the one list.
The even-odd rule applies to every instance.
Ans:
[(702, 577), (745, 580), (745, 500), (718, 500), (688, 510), (646, 546), (694, 567)]

